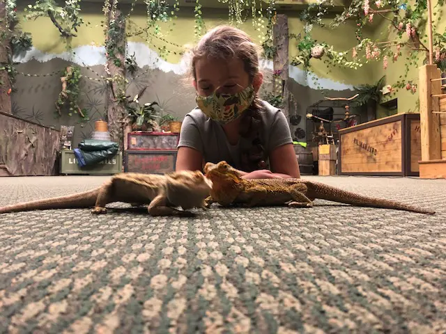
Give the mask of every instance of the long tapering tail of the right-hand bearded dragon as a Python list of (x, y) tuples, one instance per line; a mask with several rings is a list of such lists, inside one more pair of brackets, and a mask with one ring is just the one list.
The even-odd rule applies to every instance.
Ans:
[(312, 182), (307, 184), (309, 190), (309, 197), (321, 198), (322, 200), (332, 200), (344, 204), (350, 204), (357, 207), (378, 207), (383, 209), (396, 209), (410, 212), (417, 212), (419, 214), (435, 214), (435, 211), (428, 209), (420, 209), (411, 205), (406, 205), (392, 200), (385, 200), (381, 198), (373, 198), (363, 196), (350, 191), (344, 191), (328, 184), (318, 184)]

